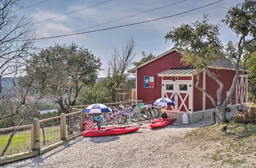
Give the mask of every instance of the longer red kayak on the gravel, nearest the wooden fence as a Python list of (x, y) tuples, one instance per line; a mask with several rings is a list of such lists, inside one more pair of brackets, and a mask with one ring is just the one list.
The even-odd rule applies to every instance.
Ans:
[(118, 135), (127, 132), (134, 132), (140, 129), (140, 126), (132, 127), (105, 127), (105, 128), (90, 128), (82, 131), (83, 137), (94, 137), (94, 136), (110, 136)]

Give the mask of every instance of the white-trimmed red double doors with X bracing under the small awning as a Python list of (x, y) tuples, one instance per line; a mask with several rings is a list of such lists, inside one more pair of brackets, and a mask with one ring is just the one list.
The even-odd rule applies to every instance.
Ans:
[(175, 106), (167, 106), (165, 109), (170, 112), (190, 111), (190, 93), (190, 81), (163, 81), (162, 96), (173, 99), (175, 102)]

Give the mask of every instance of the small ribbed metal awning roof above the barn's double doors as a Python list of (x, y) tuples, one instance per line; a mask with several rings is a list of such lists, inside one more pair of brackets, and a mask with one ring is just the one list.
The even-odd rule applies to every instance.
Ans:
[(171, 68), (158, 73), (158, 76), (192, 76), (196, 72), (196, 68)]

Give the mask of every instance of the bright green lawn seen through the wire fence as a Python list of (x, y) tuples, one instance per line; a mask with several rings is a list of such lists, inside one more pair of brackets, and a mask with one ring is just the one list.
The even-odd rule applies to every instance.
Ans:
[[(3, 133), (3, 132), (2, 132)], [(0, 153), (2, 153), (5, 148), (8, 139), (10, 137), (10, 133), (6, 135), (0, 135)], [(60, 126), (55, 127), (46, 127), (45, 128), (45, 145), (56, 141), (60, 138)], [(40, 146), (44, 146), (42, 136), (42, 129), (40, 128)], [(12, 142), (6, 151), (5, 155), (20, 153), (31, 150), (31, 131), (19, 131), (14, 134), (12, 138)]]

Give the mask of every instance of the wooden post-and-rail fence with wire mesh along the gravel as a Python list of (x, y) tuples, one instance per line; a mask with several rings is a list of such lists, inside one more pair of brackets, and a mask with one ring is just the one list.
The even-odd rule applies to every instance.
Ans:
[[(128, 105), (141, 100), (105, 103), (109, 106)], [(69, 114), (39, 120), (33, 124), (0, 129), (0, 165), (45, 153), (71, 139), (84, 130), (83, 109), (89, 105), (70, 107)]]

